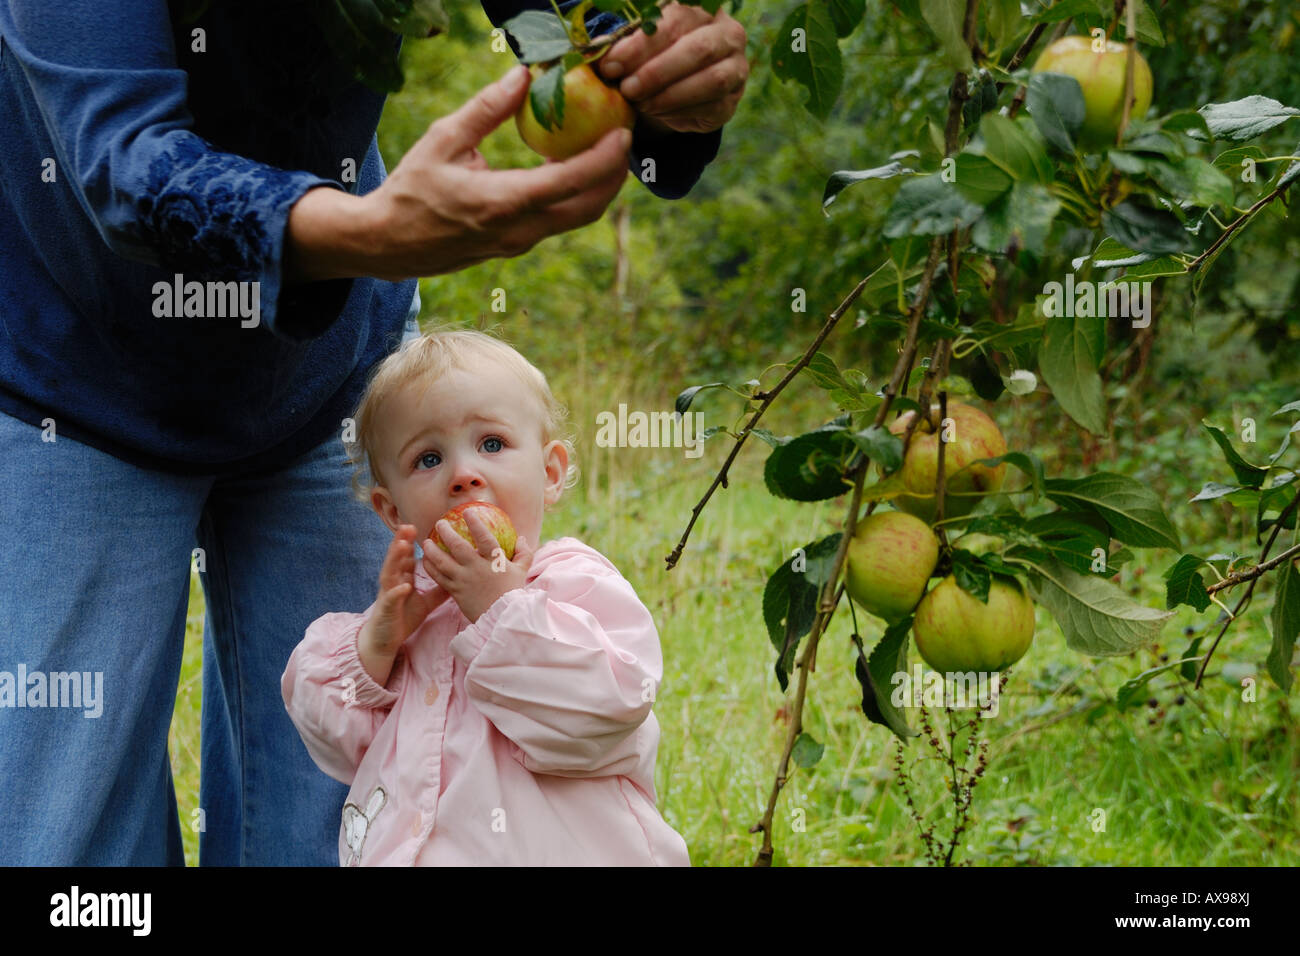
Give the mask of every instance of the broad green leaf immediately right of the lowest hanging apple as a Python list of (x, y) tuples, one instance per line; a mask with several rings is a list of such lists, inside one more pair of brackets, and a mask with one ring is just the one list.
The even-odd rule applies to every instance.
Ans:
[(1174, 617), (1173, 611), (1136, 604), (1104, 578), (1079, 574), (1061, 562), (1032, 567), (1030, 593), (1061, 626), (1072, 650), (1092, 657), (1128, 654), (1154, 641)]

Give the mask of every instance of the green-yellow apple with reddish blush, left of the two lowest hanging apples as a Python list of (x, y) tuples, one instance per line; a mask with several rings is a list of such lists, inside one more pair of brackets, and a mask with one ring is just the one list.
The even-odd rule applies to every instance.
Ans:
[(928, 524), (902, 511), (878, 511), (853, 531), (845, 588), (867, 613), (898, 620), (926, 593), (937, 563), (939, 538)]

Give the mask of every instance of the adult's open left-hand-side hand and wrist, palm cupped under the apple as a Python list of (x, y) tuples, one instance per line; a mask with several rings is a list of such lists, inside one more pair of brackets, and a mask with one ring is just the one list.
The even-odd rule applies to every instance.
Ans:
[(303, 195), (289, 216), (290, 281), (437, 276), (521, 255), (598, 220), (628, 173), (627, 130), (534, 169), (495, 170), (478, 152), (484, 137), (519, 111), (528, 83), (519, 65), (480, 90), (430, 125), (373, 193), (321, 187)]

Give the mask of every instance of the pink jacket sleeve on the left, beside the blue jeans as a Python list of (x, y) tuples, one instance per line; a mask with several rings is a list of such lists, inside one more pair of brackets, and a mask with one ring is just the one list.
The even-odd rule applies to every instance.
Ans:
[(365, 614), (324, 614), (311, 623), (280, 680), (289, 717), (316, 765), (351, 783), (356, 767), (402, 691), (406, 652), (398, 652), (387, 687), (358, 657)]

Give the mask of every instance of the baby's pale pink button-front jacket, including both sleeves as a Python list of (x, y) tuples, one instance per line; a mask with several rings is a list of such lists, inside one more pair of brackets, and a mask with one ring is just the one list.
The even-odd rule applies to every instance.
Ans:
[[(434, 587), (419, 561), (416, 587)], [(352, 786), (343, 865), (690, 865), (655, 809), (659, 635), (603, 555), (549, 541), (472, 624), (446, 601), (387, 687), (358, 658), (372, 611), (317, 618), (281, 679), (312, 758)]]

